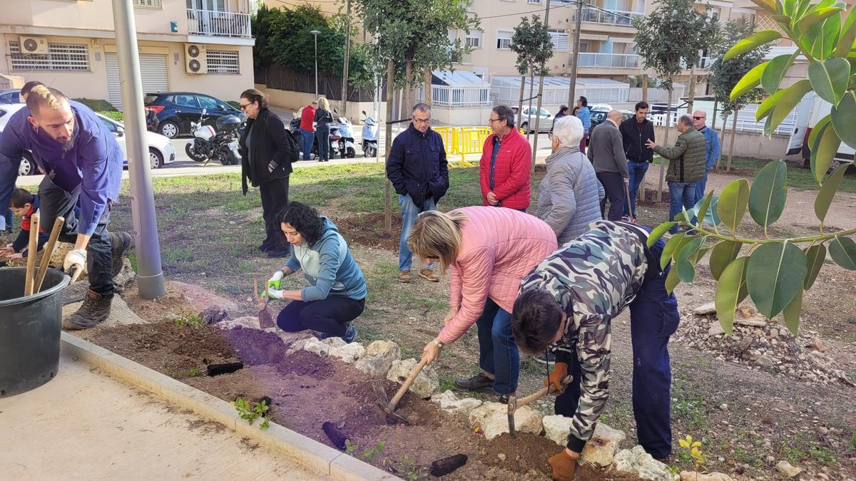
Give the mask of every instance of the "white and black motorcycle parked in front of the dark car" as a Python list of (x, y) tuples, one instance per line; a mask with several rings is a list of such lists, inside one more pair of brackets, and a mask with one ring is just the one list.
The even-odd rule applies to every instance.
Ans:
[(184, 151), (187, 157), (196, 162), (206, 164), (215, 160), (223, 165), (238, 165), (241, 163), (241, 153), (238, 150), (241, 119), (237, 116), (222, 116), (217, 119), (217, 128), (205, 125), (208, 110), (203, 109), (199, 122), (190, 122), (193, 140), (187, 142)]

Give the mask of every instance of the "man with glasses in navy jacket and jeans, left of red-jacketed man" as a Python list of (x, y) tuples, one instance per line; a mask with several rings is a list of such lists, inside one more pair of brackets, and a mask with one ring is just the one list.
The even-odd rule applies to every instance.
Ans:
[[(428, 104), (413, 106), (412, 122), (392, 141), (386, 176), (395, 187), (401, 205), (398, 280), (410, 282), (413, 260), (413, 252), (407, 247), (410, 229), (420, 212), (437, 210), (437, 202), (449, 189), (446, 148), (440, 134), (431, 130), (431, 106)], [(431, 263), (419, 270), (419, 276), (431, 282), (440, 281)]]

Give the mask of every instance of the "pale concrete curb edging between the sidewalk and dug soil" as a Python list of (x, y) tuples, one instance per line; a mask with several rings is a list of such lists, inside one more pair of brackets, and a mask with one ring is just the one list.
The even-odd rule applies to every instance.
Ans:
[(295, 462), (320, 474), (326, 474), (332, 479), (343, 481), (398, 479), (389, 472), (377, 469), (273, 422), (267, 430), (259, 430), (258, 424), (249, 425), (247, 421), (240, 419), (235, 413), (235, 407), (228, 402), (176, 381), (172, 377), (164, 376), (145, 365), (123, 358), (104, 347), (98, 347), (92, 342), (84, 341), (67, 332), (62, 332), (60, 339), (62, 350), (74, 358), (98, 366), (101, 371), (158, 395), (176, 406), (190, 409), (200, 417), (224, 425), (241, 436), (274, 448)]

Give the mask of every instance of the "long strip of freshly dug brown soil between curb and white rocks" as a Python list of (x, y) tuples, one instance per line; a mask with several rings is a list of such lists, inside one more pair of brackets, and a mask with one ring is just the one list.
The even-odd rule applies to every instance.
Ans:
[[(407, 424), (389, 425), (371, 379), (337, 359), (306, 351), (285, 355), (287, 346), (279, 336), (259, 330), (138, 324), (93, 333), (91, 340), (224, 401), (270, 396), (274, 422), (333, 446), (322, 430), (323, 423), (330, 421), (359, 446), (357, 457), (383, 442), (383, 454), (369, 461), (401, 477), (413, 472), (428, 476), (431, 461), (467, 454), (467, 465), (443, 479), (549, 479), (547, 458), (561, 449), (543, 436), (527, 433), (487, 441), (465, 419), (412, 393), (402, 398), (396, 410)], [(246, 367), (217, 377), (187, 375), (193, 367), (204, 371), (205, 364), (235, 360)], [(398, 384), (383, 381), (383, 388), (391, 398)], [(586, 467), (577, 479), (635, 478), (610, 478)]]

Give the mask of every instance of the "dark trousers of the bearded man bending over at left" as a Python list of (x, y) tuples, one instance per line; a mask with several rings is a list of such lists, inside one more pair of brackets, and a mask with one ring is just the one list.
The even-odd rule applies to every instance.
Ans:
[[(39, 184), (39, 216), (41, 229), (47, 235), (51, 235), (53, 223), (56, 217), (65, 217), (59, 241), (74, 244), (77, 241), (77, 229), (79, 219), (75, 206), (80, 198), (80, 186), (73, 192), (66, 192), (54, 185), (53, 181), (45, 175), (45, 179)], [(98, 294), (112, 294), (116, 291), (113, 286), (113, 276), (110, 270), (113, 266), (113, 254), (110, 252), (110, 232), (107, 231), (107, 223), (110, 222), (110, 206), (98, 219), (98, 225), (92, 238), (86, 246), (86, 270), (89, 272), (89, 288)]]

